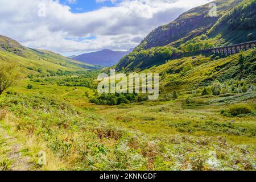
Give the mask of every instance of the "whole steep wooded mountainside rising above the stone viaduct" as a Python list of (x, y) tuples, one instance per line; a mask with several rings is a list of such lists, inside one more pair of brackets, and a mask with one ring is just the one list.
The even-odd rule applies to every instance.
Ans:
[(255, 0), (217, 0), (217, 16), (209, 3), (183, 13), (150, 32), (133, 52), (123, 57), (118, 71), (143, 71), (166, 63), (177, 52), (193, 52), (256, 40)]

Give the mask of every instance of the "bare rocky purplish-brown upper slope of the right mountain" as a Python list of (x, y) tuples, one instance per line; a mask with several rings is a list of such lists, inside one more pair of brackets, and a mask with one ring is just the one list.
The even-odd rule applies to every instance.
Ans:
[(232, 9), (232, 7), (240, 2), (241, 0), (214, 1), (217, 5), (217, 17), (209, 16), (209, 4), (189, 10), (181, 14), (174, 22), (160, 26), (150, 32), (135, 49), (139, 51), (151, 47), (167, 46), (168, 44), (171, 46), (179, 46), (180, 43), (186, 40), (204, 34), (217, 22), (222, 14)]

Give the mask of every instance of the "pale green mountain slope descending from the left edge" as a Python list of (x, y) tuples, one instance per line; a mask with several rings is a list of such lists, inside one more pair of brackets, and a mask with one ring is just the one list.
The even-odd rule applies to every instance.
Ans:
[(94, 65), (68, 59), (57, 53), (24, 47), (16, 40), (0, 35), (0, 61), (15, 63), (24, 73), (61, 71), (85, 71), (95, 69)]

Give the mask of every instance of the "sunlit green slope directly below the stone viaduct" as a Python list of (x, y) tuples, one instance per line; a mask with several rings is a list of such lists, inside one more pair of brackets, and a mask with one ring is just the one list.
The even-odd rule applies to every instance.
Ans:
[(256, 84), (256, 49), (228, 57), (185, 56), (142, 72), (159, 73), (163, 92), (196, 90), (220, 82), (243, 80)]

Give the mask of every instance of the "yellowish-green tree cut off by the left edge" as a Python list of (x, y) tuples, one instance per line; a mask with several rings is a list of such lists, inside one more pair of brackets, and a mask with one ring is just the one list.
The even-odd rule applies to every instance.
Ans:
[(20, 78), (20, 73), (14, 64), (0, 63), (0, 96), (7, 88), (14, 85)]

